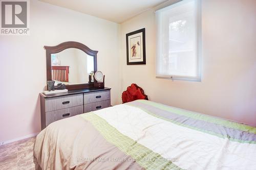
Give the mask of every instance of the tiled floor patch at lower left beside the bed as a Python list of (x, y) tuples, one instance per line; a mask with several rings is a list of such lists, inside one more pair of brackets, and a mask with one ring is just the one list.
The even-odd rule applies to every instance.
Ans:
[(0, 146), (0, 169), (35, 169), (33, 147), (35, 137)]

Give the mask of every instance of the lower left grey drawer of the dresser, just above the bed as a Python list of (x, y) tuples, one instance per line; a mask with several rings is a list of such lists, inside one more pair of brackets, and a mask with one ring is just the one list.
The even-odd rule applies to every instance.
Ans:
[(67, 117), (75, 116), (77, 114), (82, 114), (82, 113), (83, 113), (83, 105), (70, 107), (67, 109), (60, 109), (60, 110), (55, 110), (51, 112), (46, 112), (46, 126), (62, 118), (67, 118)]

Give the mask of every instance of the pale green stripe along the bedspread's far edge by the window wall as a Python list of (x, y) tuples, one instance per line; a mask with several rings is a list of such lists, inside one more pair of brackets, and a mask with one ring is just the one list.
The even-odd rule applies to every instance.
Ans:
[[(179, 108), (174, 108), (174, 107), (166, 106), (166, 105), (151, 102), (151, 101), (137, 100), (136, 102), (151, 105), (151, 106), (154, 106), (154, 107), (157, 107), (159, 109), (169, 111), (169, 112), (172, 112), (172, 113), (175, 113), (175, 114), (184, 115), (184, 116), (187, 116), (187, 117), (191, 117), (191, 118), (195, 118), (195, 119), (199, 119), (199, 120), (204, 120), (205, 122), (215, 123), (215, 124), (218, 124), (218, 125), (222, 125), (224, 127), (238, 129), (238, 130), (241, 130), (241, 131), (246, 131), (246, 132), (249, 132), (249, 133), (256, 134), (256, 128), (248, 126), (248, 125), (231, 122), (231, 121), (225, 120), (225, 119), (215, 118), (215, 117), (212, 117), (212, 116), (199, 114), (199, 113), (196, 113), (196, 112), (182, 110), (182, 109), (179, 109)], [(129, 104), (129, 103), (126, 103), (126, 104)]]

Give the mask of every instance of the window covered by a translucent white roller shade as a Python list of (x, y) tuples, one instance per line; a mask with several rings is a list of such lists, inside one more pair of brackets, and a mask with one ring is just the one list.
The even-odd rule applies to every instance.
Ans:
[(201, 81), (200, 0), (183, 0), (156, 11), (157, 78)]

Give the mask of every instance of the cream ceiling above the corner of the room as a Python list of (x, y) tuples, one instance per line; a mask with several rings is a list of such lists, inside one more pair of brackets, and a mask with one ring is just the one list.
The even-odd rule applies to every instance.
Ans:
[(121, 23), (166, 0), (40, 0), (52, 5)]

